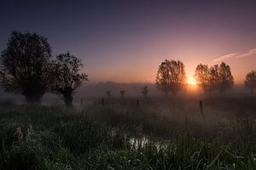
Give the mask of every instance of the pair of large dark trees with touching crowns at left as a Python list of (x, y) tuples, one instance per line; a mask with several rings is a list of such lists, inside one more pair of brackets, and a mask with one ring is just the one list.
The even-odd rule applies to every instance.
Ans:
[(46, 92), (59, 94), (68, 107), (82, 82), (80, 59), (67, 52), (52, 58), (46, 37), (13, 31), (0, 58), (0, 85), (6, 92), (25, 96), (29, 104), (39, 104)]

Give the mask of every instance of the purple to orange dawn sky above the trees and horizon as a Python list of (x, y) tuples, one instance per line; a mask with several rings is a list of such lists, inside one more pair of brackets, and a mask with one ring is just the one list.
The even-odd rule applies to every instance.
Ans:
[(236, 83), (256, 70), (256, 1), (1, 0), (0, 50), (11, 31), (47, 37), (53, 56), (82, 59), (90, 82), (154, 82), (165, 59), (189, 80), (196, 65), (230, 65)]

